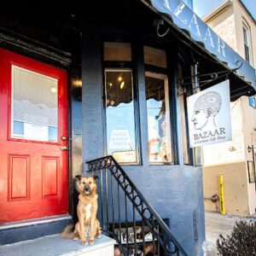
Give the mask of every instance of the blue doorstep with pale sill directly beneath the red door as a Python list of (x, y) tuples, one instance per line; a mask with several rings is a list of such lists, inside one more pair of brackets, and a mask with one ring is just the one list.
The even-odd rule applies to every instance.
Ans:
[(59, 234), (70, 221), (69, 214), (62, 214), (0, 224), (0, 246)]

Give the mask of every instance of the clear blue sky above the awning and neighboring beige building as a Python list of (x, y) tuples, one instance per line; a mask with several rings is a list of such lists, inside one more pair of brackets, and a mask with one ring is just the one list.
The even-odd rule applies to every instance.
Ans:
[[(221, 3), (223, 0), (193, 0), (194, 12), (200, 17), (206, 15), (211, 9)], [(256, 20), (256, 0), (241, 0)]]

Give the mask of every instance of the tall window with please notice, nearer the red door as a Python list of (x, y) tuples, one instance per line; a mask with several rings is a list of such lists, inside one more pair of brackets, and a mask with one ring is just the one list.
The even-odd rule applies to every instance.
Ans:
[(131, 69), (105, 70), (107, 153), (119, 163), (137, 163)]

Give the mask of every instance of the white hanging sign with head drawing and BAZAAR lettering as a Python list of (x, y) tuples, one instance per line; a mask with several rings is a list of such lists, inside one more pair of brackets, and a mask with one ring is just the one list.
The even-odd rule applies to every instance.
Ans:
[(187, 98), (190, 148), (232, 139), (230, 81)]

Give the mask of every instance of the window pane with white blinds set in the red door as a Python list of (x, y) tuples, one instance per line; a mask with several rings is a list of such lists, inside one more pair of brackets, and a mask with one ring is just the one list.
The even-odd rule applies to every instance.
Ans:
[(12, 137), (57, 142), (58, 80), (12, 67)]

